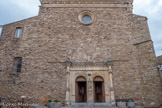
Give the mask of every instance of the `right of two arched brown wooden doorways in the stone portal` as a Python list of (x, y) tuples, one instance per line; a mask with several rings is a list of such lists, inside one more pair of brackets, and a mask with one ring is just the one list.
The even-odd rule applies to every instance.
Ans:
[(97, 76), (93, 79), (94, 83), (94, 102), (105, 102), (104, 79)]

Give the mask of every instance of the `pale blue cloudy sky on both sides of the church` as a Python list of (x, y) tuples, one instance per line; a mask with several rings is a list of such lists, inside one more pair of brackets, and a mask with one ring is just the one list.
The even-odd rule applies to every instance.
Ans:
[[(1, 0), (0, 25), (37, 16), (39, 0)], [(134, 0), (133, 13), (146, 16), (156, 56), (162, 55), (162, 0)]]

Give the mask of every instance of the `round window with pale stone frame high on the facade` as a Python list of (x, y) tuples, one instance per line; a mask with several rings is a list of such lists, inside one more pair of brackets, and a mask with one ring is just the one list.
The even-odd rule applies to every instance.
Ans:
[(90, 25), (94, 21), (94, 15), (89, 11), (84, 11), (80, 13), (79, 21), (84, 25)]

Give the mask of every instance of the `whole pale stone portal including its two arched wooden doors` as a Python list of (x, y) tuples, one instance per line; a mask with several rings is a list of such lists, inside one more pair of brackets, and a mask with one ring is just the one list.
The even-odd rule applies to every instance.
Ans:
[(115, 104), (112, 62), (67, 62), (66, 105)]

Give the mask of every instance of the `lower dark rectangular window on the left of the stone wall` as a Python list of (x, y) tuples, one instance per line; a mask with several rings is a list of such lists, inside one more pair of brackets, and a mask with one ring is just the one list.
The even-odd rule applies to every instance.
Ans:
[(22, 57), (15, 57), (14, 58), (13, 72), (14, 73), (21, 73), (21, 66), (22, 66)]

